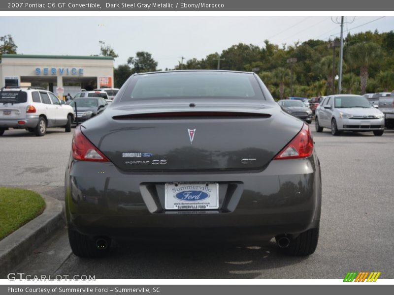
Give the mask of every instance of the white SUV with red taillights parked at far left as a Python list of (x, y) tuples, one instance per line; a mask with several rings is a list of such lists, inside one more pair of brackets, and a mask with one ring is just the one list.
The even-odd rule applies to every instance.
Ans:
[(44, 136), (47, 127), (65, 127), (71, 131), (74, 110), (55, 94), (43, 89), (11, 88), (0, 90), (0, 136), (8, 128)]

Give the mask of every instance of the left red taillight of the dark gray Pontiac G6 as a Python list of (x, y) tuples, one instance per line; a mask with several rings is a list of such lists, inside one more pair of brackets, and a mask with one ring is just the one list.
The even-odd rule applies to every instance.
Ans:
[(80, 161), (109, 162), (98, 148), (96, 148), (81, 131), (81, 126), (75, 128), (72, 138), (72, 157)]

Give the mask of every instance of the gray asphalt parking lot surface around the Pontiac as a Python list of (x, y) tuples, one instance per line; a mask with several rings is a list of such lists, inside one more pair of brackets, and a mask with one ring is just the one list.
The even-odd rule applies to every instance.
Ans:
[[(312, 125), (312, 130), (314, 126)], [(73, 130), (72, 130), (73, 131)], [(96, 278), (343, 278), (380, 271), (393, 278), (394, 130), (331, 136), (312, 132), (323, 181), (319, 245), (308, 258), (281, 255), (271, 242), (250, 247), (180, 248), (116, 244), (108, 257), (80, 259), (66, 231), (36, 249), (15, 272), (96, 275)], [(31, 188), (64, 200), (72, 133), (25, 130), (0, 137), (0, 186)]]

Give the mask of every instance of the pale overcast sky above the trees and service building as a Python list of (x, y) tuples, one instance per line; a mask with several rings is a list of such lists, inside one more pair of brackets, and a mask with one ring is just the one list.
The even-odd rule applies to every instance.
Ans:
[[(340, 26), (332, 20), (329, 16), (0, 17), (0, 35), (13, 36), (17, 53), (37, 55), (97, 55), (101, 40), (119, 55), (115, 66), (127, 63), (137, 51), (147, 51), (164, 70), (173, 68), (181, 57), (202, 59), (240, 42), (262, 47), (265, 39), (281, 46), (328, 40), (340, 35)], [(394, 29), (393, 16), (346, 17), (345, 21), (345, 36), (347, 30)]]

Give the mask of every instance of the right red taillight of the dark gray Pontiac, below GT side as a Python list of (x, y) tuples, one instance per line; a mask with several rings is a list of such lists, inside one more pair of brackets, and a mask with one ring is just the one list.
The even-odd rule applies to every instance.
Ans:
[(300, 159), (309, 157), (313, 151), (313, 140), (309, 126), (304, 123), (296, 137), (283, 148), (274, 160)]

